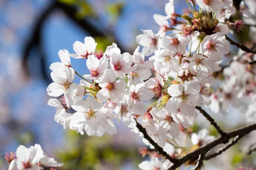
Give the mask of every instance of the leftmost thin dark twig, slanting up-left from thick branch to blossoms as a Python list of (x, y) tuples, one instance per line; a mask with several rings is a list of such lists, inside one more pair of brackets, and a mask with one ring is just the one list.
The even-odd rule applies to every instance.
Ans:
[(142, 125), (140, 125), (140, 123), (138, 123), (136, 119), (135, 119), (135, 121), (136, 121), (136, 127), (139, 129), (139, 131), (140, 131), (141, 133), (143, 133), (143, 137), (144, 137), (145, 139), (147, 139), (148, 142), (154, 146), (155, 150), (157, 150), (157, 153), (163, 155), (166, 159), (168, 159), (169, 161), (171, 161), (173, 164), (176, 164), (178, 160), (175, 159), (175, 158), (172, 158), (168, 153), (166, 153), (166, 152), (163, 150), (163, 147), (160, 147), (160, 146), (159, 146), (156, 142), (154, 142), (154, 140), (148, 135), (146, 129), (145, 129)]

